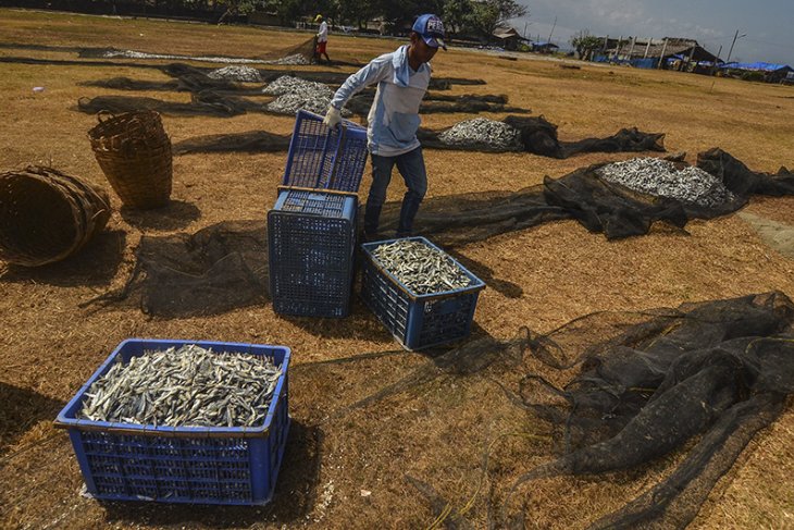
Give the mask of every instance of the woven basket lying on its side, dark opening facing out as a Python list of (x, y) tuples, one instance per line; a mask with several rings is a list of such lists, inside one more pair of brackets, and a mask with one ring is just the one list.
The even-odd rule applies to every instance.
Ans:
[(60, 261), (110, 219), (101, 187), (52, 168), (0, 173), (0, 259), (26, 267)]

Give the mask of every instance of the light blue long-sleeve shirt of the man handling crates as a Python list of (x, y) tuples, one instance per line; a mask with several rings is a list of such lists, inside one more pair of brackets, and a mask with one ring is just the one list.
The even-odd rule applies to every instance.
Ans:
[(419, 147), (419, 106), (430, 84), (430, 64), (414, 72), (408, 64), (408, 46), (373, 59), (336, 90), (331, 104), (338, 110), (364, 87), (377, 83), (367, 118), (370, 152), (396, 157)]

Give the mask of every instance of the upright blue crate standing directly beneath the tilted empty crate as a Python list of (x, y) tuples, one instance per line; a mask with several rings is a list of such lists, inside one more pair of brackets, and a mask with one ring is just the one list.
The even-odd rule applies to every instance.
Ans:
[(339, 192), (282, 188), (268, 212), (273, 310), (343, 318), (350, 312), (358, 199)]

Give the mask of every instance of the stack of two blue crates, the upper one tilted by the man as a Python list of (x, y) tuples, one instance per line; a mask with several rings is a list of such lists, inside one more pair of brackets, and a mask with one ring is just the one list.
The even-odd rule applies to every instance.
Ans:
[(298, 111), (283, 185), (268, 213), (270, 293), (283, 315), (346, 317), (367, 130)]

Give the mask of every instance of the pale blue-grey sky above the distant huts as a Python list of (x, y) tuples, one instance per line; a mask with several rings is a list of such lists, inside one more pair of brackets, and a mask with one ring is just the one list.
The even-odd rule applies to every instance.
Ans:
[[(724, 61), (794, 66), (794, 0), (518, 0), (529, 16), (510, 21), (520, 34), (570, 48), (572, 35), (694, 38)], [(555, 26), (555, 17), (557, 24)], [(554, 30), (553, 30), (554, 28)]]

